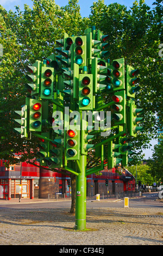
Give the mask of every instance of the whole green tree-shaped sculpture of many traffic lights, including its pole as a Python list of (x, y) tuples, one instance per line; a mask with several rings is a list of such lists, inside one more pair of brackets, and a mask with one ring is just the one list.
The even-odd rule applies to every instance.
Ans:
[[(131, 146), (124, 138), (143, 130), (136, 126), (142, 121), (137, 117), (142, 109), (134, 101), (139, 71), (127, 66), (125, 77), (124, 58), (108, 59), (108, 40), (109, 35), (96, 32), (94, 26), (82, 36), (64, 33), (56, 41), (57, 54), (27, 66), (30, 96), (21, 111), (16, 111), (21, 127), (15, 131), (21, 137), (30, 138), (32, 133), (39, 139), (40, 165), (76, 175), (76, 230), (86, 229), (86, 176), (104, 166), (127, 164)], [(103, 95), (111, 100), (105, 103)], [(99, 121), (102, 126), (97, 126)], [(93, 151), (100, 164), (87, 169), (87, 155)]]

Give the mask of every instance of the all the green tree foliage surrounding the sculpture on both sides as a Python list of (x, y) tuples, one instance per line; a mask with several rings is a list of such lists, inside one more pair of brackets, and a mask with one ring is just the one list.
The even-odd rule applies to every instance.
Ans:
[[(159, 56), (162, 1), (150, 9), (143, 0), (135, 1), (127, 10), (124, 5), (108, 6), (103, 0), (93, 2), (89, 17), (82, 18), (77, 0), (69, 0), (59, 7), (54, 0), (33, 0), (33, 9), (24, 5), (15, 12), (6, 11), (0, 5), (0, 159), (12, 159), (14, 153), (25, 152), (22, 161), (33, 159), (37, 151), (35, 138), (21, 139), (12, 129), (16, 127), (14, 110), (24, 104), (24, 67), (36, 59), (55, 53), (55, 41), (68, 35), (83, 35), (85, 28), (96, 26), (110, 35), (110, 59), (124, 57), (126, 64), (141, 71), (141, 90), (136, 94), (136, 105), (145, 109), (145, 132), (133, 140), (134, 148), (142, 152), (156, 134), (162, 119), (162, 58)], [(139, 154), (140, 156), (140, 154)], [(137, 161), (137, 155), (135, 158)]]

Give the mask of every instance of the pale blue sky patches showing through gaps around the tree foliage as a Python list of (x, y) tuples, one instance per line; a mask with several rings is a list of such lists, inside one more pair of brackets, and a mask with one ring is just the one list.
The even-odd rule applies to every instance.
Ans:
[[(133, 5), (133, 2), (135, 0), (117, 0), (117, 1), (113, 1), (113, 0), (104, 0), (104, 3), (106, 5), (109, 5), (111, 3), (119, 3), (119, 4), (123, 4), (127, 7), (127, 9), (129, 10), (129, 8)], [(82, 17), (87, 17), (90, 15), (91, 9), (90, 7), (93, 5), (93, 2), (97, 2), (95, 0), (78, 0), (78, 4), (80, 5), (80, 14)], [(154, 2), (154, 0), (145, 0), (145, 3), (151, 7), (151, 9), (154, 8), (154, 5), (152, 5)], [(55, 0), (55, 3), (58, 4), (60, 7), (61, 6), (65, 6), (66, 4), (68, 4), (68, 0)], [(15, 11), (15, 5), (19, 5), (20, 9), (23, 10), (24, 9), (24, 4), (29, 5), (30, 8), (33, 7), (33, 1), (32, 0), (0, 0), (0, 4), (7, 10), (9, 11), (10, 9), (12, 11)], [(147, 160), (149, 157), (152, 157), (152, 149), (154, 147), (155, 144), (158, 144), (157, 140), (153, 140), (151, 141), (152, 147), (146, 150), (143, 150), (143, 153), (145, 153), (145, 159)]]

